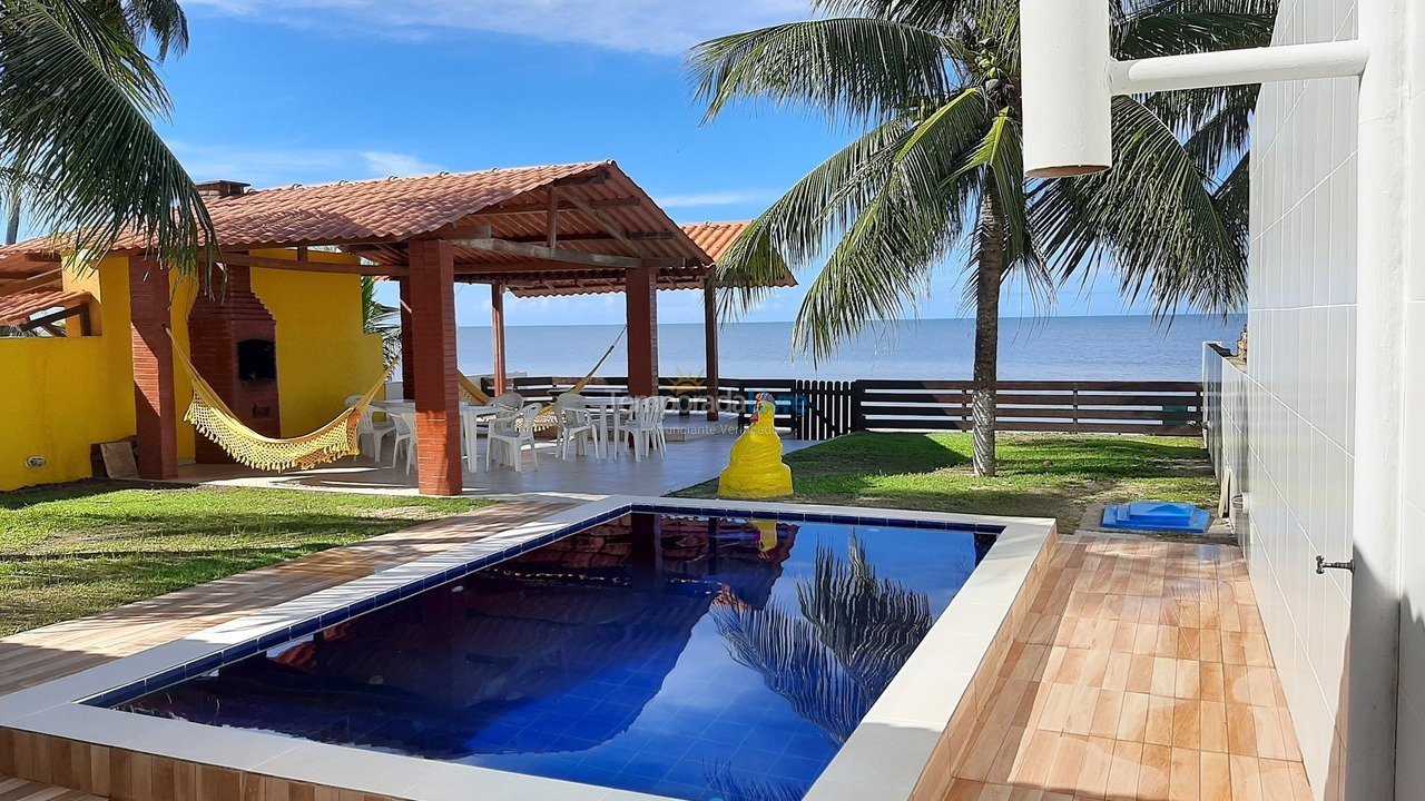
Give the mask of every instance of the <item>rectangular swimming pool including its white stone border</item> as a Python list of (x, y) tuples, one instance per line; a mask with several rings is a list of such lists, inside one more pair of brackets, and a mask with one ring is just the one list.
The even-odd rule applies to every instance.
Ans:
[(616, 497), (6, 697), (0, 725), (422, 801), (908, 797), (1049, 536)]

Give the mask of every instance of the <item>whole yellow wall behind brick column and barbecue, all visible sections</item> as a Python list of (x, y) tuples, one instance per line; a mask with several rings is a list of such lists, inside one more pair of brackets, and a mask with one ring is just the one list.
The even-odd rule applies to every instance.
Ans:
[[(289, 258), (289, 252), (256, 255)], [(318, 261), (355, 257), (312, 252)], [(0, 338), (0, 492), (70, 482), (91, 475), (90, 448), (134, 435), (134, 372), (130, 353), (128, 262), (104, 261), (97, 272), (66, 277), (66, 285), (100, 301), (98, 336)], [(188, 311), (197, 281), (172, 286), (172, 329), (188, 346)], [(276, 318), (282, 435), (321, 428), (380, 376), (380, 338), (362, 331), (356, 275), (254, 269), (252, 289)], [(192, 398), (175, 369), (178, 459), (194, 455), (192, 426), (181, 420)], [(26, 459), (44, 456), (44, 467)]]

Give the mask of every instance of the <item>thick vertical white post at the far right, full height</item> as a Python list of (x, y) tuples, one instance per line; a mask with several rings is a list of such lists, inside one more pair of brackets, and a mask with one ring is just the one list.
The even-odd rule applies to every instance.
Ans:
[[(1411, 6), (1419, 0), (1359, 0), (1361, 40), (1371, 64), (1361, 76), (1361, 123), (1357, 153), (1357, 331), (1355, 453), (1351, 516), (1355, 573), (1347, 577), (1351, 629), (1345, 677), (1345, 798), (1401, 798), (1396, 760), (1421, 754), (1396, 751), (1401, 626), (1401, 537), (1406, 415), (1418, 409), (1405, 395), (1406, 237), (1422, 218), (1411, 202), (1409, 70)], [(1411, 458), (1419, 459), (1419, 455)], [(1419, 532), (1409, 532), (1419, 536)], [(1327, 556), (1341, 559), (1341, 556)], [(1307, 573), (1308, 566), (1300, 566)], [(1408, 666), (1419, 670), (1419, 664)], [(1337, 693), (1335, 687), (1325, 687)], [(1404, 767), (1404, 765), (1402, 765)], [(1412, 770), (1418, 770), (1418, 765)]]

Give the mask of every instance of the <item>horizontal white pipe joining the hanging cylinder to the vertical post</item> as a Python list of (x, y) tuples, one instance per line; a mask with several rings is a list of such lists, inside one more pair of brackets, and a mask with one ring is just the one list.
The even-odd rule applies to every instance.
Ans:
[(1368, 58), (1369, 48), (1364, 41), (1327, 41), (1110, 61), (1109, 90), (1113, 94), (1146, 94), (1271, 81), (1347, 78), (1359, 76)]

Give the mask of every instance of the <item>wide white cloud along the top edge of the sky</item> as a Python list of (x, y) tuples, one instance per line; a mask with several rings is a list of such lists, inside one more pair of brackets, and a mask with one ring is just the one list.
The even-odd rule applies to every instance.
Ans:
[(808, 14), (807, 0), (190, 0), (187, 7), (363, 36), (480, 30), (658, 54)]

